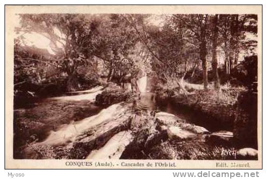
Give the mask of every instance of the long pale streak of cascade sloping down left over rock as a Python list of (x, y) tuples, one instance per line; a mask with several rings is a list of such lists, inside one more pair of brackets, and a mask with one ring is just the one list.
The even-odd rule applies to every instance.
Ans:
[(80, 141), (83, 137), (92, 137), (91, 131), (94, 131), (94, 136), (98, 136), (120, 125), (128, 125), (130, 116), (132, 114), (127, 106), (115, 104), (101, 110), (97, 115), (64, 125), (57, 131), (51, 131), (49, 136), (38, 144), (66, 145), (70, 142)]

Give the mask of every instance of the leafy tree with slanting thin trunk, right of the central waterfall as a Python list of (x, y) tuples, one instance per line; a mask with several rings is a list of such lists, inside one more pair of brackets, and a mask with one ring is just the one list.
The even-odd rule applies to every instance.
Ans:
[(165, 17), (163, 27), (143, 24), (136, 31), (152, 57), (152, 67), (158, 76), (176, 82), (187, 94), (183, 78), (188, 66), (198, 57), (195, 56), (196, 47), (188, 43), (186, 29), (179, 28), (170, 17)]

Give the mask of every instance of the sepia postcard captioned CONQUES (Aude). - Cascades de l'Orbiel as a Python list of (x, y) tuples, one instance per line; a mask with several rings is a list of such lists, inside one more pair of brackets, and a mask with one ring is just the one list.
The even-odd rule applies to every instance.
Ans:
[(5, 6), (5, 167), (262, 168), (262, 6)]

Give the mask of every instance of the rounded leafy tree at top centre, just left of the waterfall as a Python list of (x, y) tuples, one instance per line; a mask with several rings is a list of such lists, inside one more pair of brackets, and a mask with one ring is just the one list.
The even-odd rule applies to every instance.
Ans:
[(108, 59), (105, 60), (109, 68), (108, 80), (120, 83), (123, 76), (130, 74), (132, 78), (137, 70), (131, 54), (136, 53), (134, 51), (138, 37), (121, 15), (112, 14), (108, 19), (108, 22), (102, 23), (103, 32), (101, 45), (98, 46), (98, 55)]

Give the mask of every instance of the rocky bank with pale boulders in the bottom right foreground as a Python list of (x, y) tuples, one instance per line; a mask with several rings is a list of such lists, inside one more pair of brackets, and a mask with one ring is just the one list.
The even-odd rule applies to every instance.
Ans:
[(131, 125), (134, 138), (121, 159), (257, 159), (255, 149), (235, 147), (230, 131), (211, 132), (165, 112), (144, 112), (135, 120), (140, 117)]

